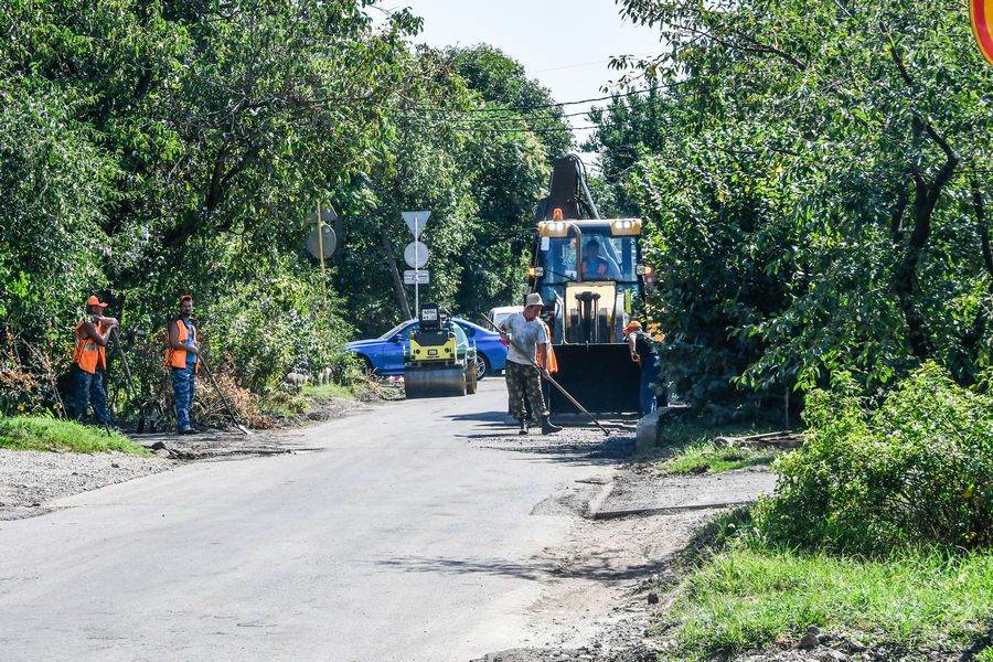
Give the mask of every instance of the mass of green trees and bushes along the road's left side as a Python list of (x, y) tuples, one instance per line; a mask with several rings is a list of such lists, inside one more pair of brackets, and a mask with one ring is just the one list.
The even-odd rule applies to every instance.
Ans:
[[(285, 393), (290, 372), (354, 388), (342, 345), (410, 317), (394, 281), (404, 210), (431, 211), (423, 297), (471, 314), (523, 296), (532, 205), (573, 142), (564, 111), (499, 50), (414, 47), (420, 19), (381, 11), (39, 0), (3, 12), (0, 413), (60, 413), (89, 295), (121, 321), (108, 349), (121, 417), (150, 399), (172, 410), (162, 329), (182, 293), (250, 425), (305, 408)], [(306, 250), (319, 203), (338, 245), (324, 269)], [(211, 391), (203, 381), (200, 421), (224, 424)]]

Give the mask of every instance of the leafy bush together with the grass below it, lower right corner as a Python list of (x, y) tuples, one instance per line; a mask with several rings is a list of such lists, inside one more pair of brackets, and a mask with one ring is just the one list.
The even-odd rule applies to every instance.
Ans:
[(775, 494), (701, 534), (666, 615), (679, 655), (796, 644), (810, 627), (895, 655), (986, 641), (993, 397), (928, 364), (878, 407), (841, 375), (804, 419)]

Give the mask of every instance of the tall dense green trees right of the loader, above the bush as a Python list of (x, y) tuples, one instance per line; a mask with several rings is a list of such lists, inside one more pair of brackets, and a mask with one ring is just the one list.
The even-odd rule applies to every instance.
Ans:
[[(990, 364), (993, 70), (959, 2), (626, 0), (669, 52), (592, 118), (693, 402)], [(744, 391), (743, 391), (744, 388)]]

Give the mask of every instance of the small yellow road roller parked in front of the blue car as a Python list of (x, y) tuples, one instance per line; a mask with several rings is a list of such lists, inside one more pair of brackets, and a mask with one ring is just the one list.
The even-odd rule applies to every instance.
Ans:
[(437, 303), (420, 308), (404, 355), (407, 397), (448, 397), (476, 393), (476, 348)]

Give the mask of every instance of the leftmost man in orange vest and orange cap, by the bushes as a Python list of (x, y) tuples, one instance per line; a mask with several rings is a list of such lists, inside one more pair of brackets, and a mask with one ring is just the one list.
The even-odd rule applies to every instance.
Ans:
[(76, 346), (73, 350), (73, 417), (81, 421), (89, 420), (89, 407), (93, 406), (94, 419), (97, 424), (110, 425), (110, 413), (107, 410), (107, 393), (104, 391), (107, 371), (107, 341), (110, 332), (119, 323), (111, 317), (105, 317), (107, 305), (92, 296), (86, 300), (86, 317), (76, 323)]

